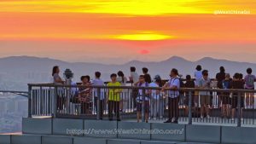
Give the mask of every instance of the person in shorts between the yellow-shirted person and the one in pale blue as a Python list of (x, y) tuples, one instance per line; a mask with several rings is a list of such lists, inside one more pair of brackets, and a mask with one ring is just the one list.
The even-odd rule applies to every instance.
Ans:
[(148, 82), (146, 82), (144, 75), (139, 77), (139, 81), (137, 82), (138, 95), (137, 95), (137, 123), (140, 122), (142, 118), (142, 110), (143, 110), (143, 97), (145, 97), (144, 101), (144, 112), (145, 112), (145, 120), (148, 123), (149, 118), (149, 91), (148, 89), (143, 92), (142, 88), (147, 88), (149, 86)]

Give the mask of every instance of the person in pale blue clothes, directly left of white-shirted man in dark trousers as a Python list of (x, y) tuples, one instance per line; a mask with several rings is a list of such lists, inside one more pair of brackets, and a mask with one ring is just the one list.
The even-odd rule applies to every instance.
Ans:
[[(150, 88), (159, 88), (162, 87), (161, 85), (162, 79), (160, 78), (160, 75), (154, 76), (154, 82), (149, 84)], [(156, 120), (157, 115), (160, 118), (163, 118), (163, 101), (160, 97), (160, 90), (159, 89), (150, 89), (149, 93), (151, 95), (151, 118)]]

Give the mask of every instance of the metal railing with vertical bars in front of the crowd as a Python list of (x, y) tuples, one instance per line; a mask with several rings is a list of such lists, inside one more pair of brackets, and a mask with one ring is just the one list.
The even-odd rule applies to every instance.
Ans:
[[(181, 124), (254, 125), (255, 107), (246, 94), (256, 90), (165, 89), (150, 87), (28, 84), (28, 117), (172, 120)], [(178, 95), (177, 101), (173, 97)], [(177, 110), (174, 110), (177, 106)], [(174, 108), (174, 109), (173, 109)], [(173, 116), (174, 115), (174, 116)], [(137, 119), (139, 120), (139, 119)]]

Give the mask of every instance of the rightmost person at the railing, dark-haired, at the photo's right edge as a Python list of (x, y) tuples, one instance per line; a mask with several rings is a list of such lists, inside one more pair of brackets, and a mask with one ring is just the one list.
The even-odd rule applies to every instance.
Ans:
[[(254, 82), (256, 77), (252, 74), (252, 68), (247, 68), (247, 76), (245, 76), (245, 89), (254, 90)], [(253, 108), (254, 106), (254, 93), (246, 93), (247, 108)]]

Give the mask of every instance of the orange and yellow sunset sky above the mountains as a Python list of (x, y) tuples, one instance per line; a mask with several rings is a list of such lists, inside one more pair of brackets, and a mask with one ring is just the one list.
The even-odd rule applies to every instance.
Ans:
[[(215, 14), (230, 10), (247, 14)], [(256, 63), (256, 1), (0, 0), (0, 49), (100, 63), (172, 55)]]

